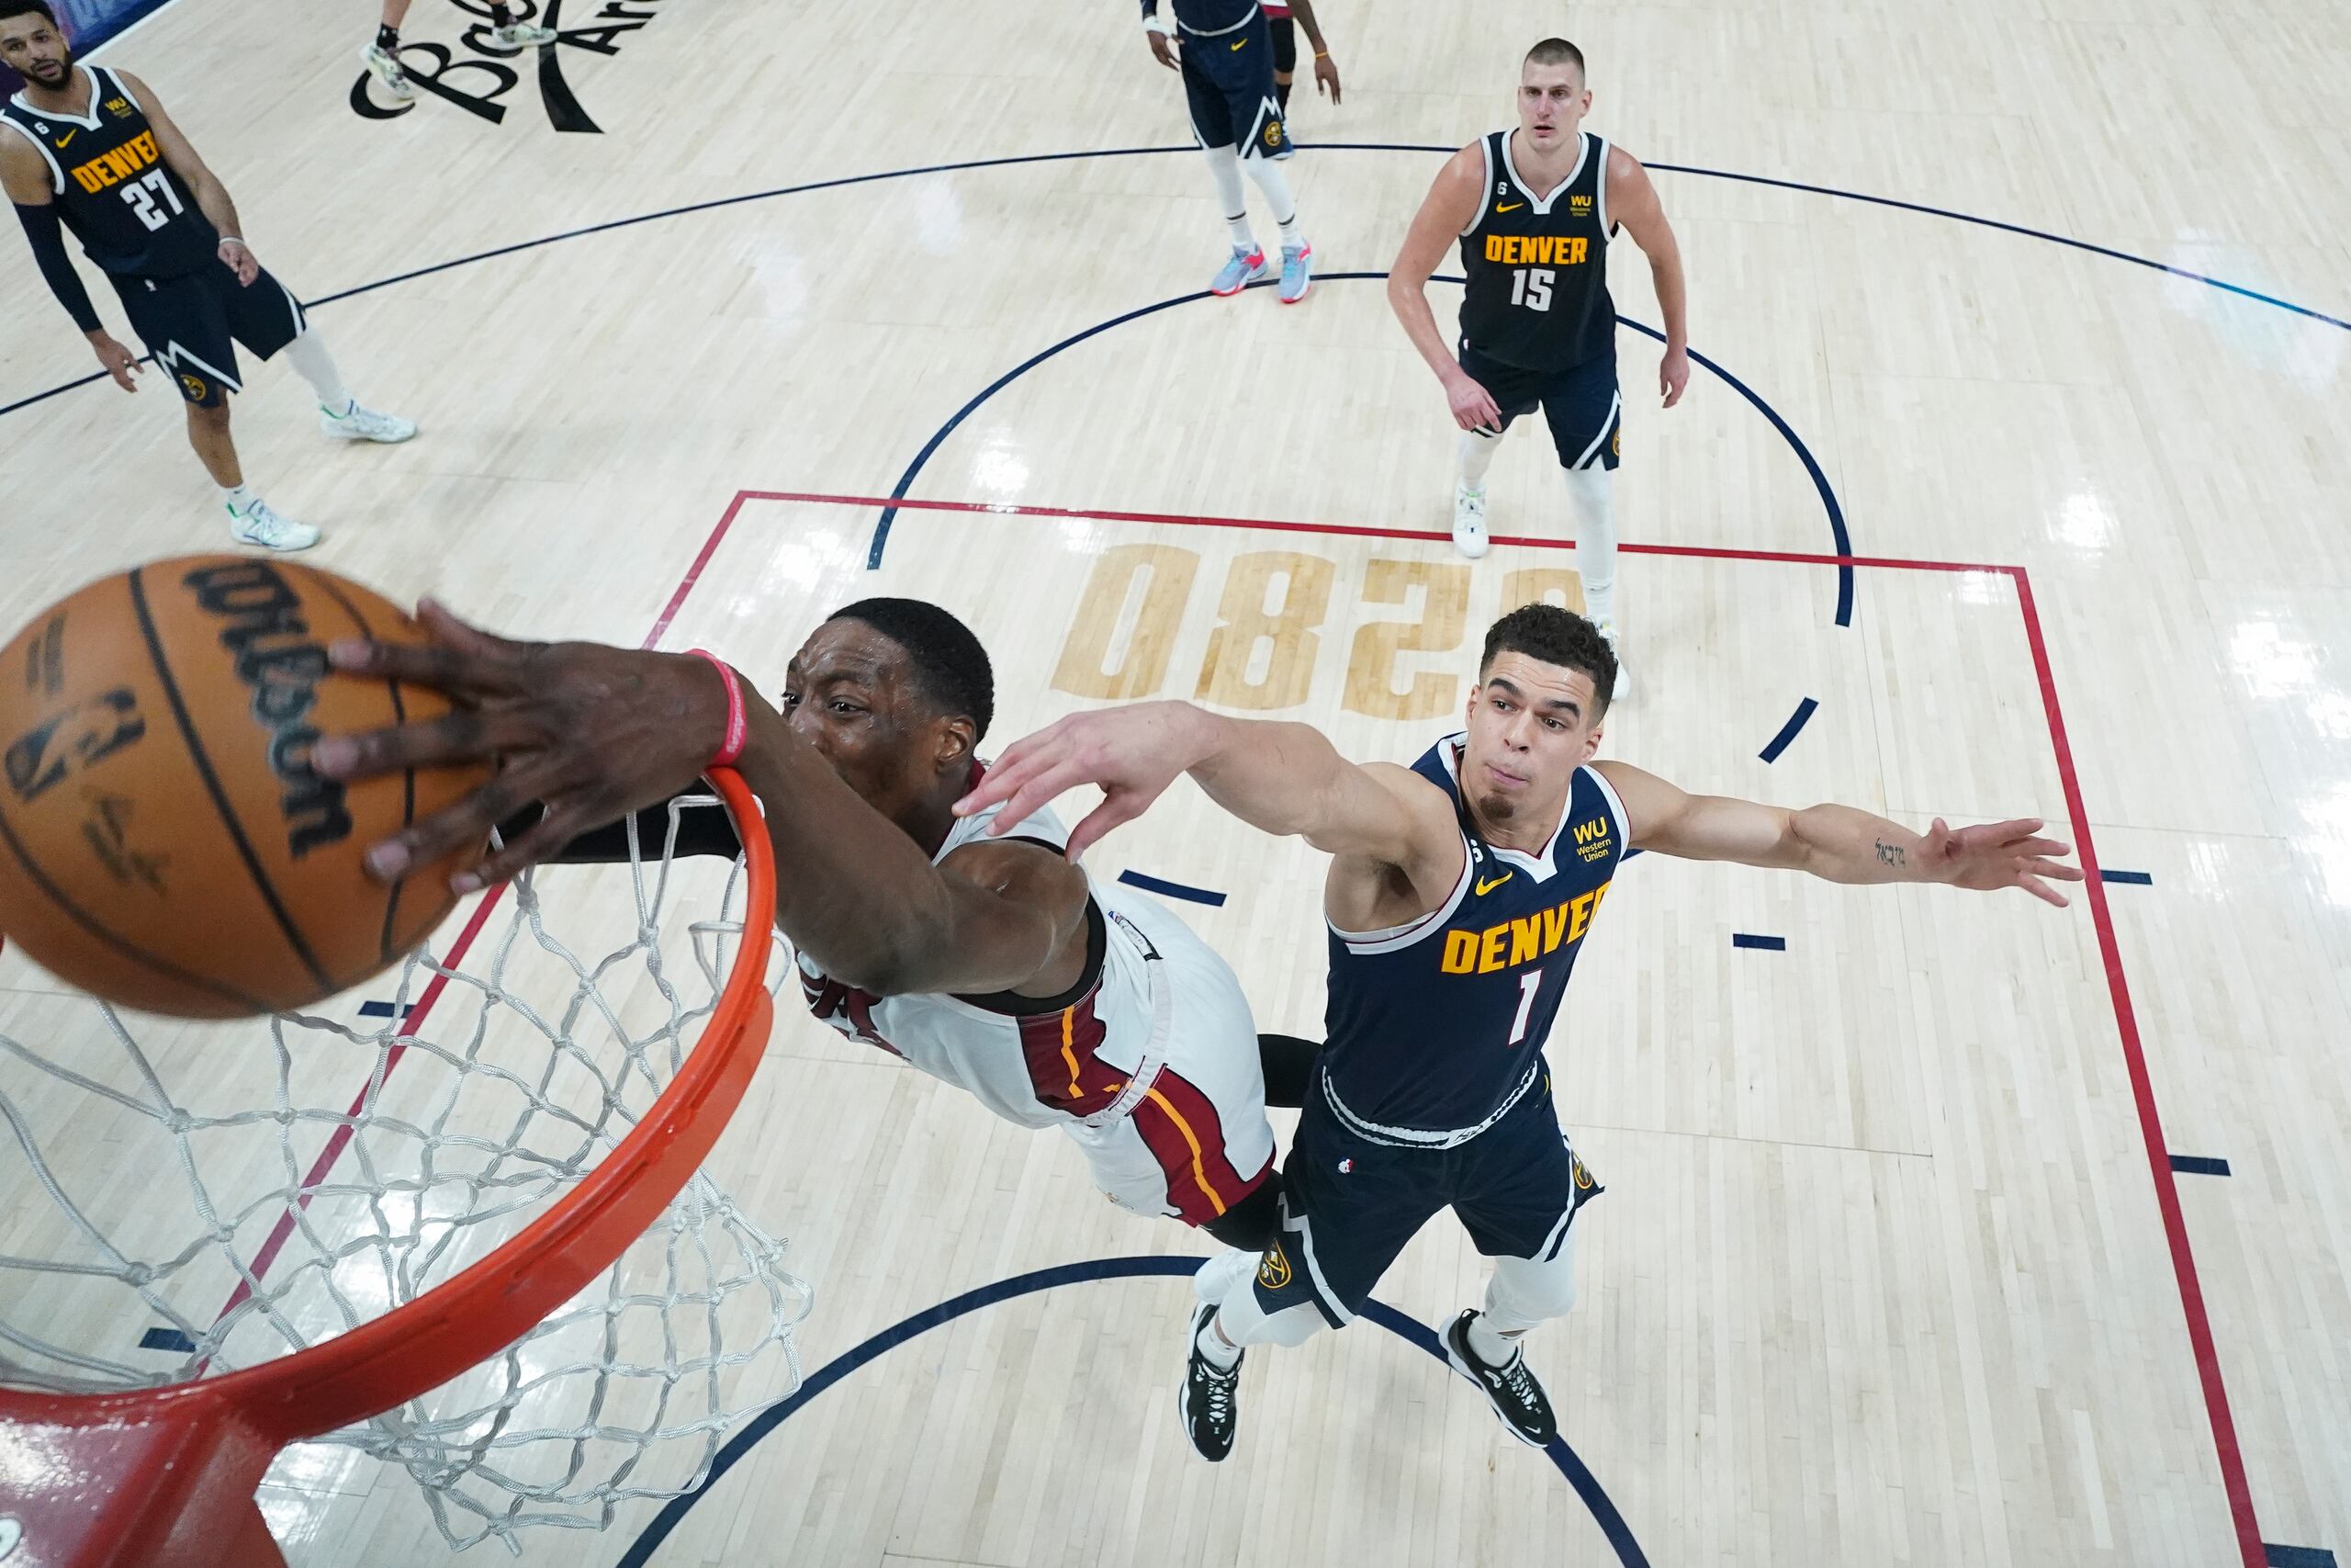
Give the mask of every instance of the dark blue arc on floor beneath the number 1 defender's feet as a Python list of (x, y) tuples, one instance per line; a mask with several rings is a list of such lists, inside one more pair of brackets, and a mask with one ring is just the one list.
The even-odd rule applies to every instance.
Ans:
[[(882, 1354), (905, 1345), (907, 1340), (929, 1333), (940, 1324), (952, 1324), (955, 1319), (969, 1312), (978, 1312), (980, 1307), (994, 1307), (997, 1302), (1009, 1302), (1020, 1295), (1034, 1295), (1039, 1291), (1053, 1291), (1058, 1286), (1074, 1286), (1089, 1279), (1152, 1279), (1152, 1276), (1192, 1279), (1192, 1274), (1204, 1262), (1206, 1258), (1171, 1258), (1164, 1253), (1143, 1258), (1091, 1258), (1086, 1262), (1063, 1262), (1051, 1269), (1032, 1269), (1027, 1274), (1013, 1274), (1011, 1279), (999, 1279), (997, 1284), (980, 1286), (978, 1291), (964, 1291), (962, 1295), (943, 1300), (936, 1307), (929, 1307), (924, 1312), (917, 1312), (915, 1316), (891, 1324), (889, 1328), (872, 1335), (856, 1349), (828, 1361), (806, 1382), (802, 1382), (790, 1399), (762, 1410), (750, 1422), (745, 1422), (741, 1432), (726, 1439), (726, 1446), (719, 1448), (719, 1455), (710, 1462), (710, 1474), (703, 1476), (701, 1486), (665, 1502), (663, 1509), (654, 1514), (654, 1521), (637, 1533), (637, 1540), (628, 1544), (628, 1552), (621, 1554), (614, 1568), (644, 1568), (647, 1563), (651, 1563), (654, 1552), (658, 1552), (661, 1542), (670, 1537), (670, 1530), (675, 1530), (686, 1519), (686, 1512), (705, 1495), (710, 1495), (710, 1488), (717, 1486), (719, 1479), (729, 1469), (734, 1469), (752, 1448), (757, 1448), (769, 1432), (773, 1432), (785, 1420), (797, 1415), (802, 1406), (806, 1406), (811, 1399), (830, 1389), (849, 1373), (858, 1371), (870, 1361), (877, 1361)], [(1439, 1361), (1446, 1359), (1446, 1352), (1436, 1342), (1436, 1335), (1425, 1324), (1415, 1324), (1394, 1307), (1385, 1302), (1366, 1302), (1361, 1316), (1418, 1345)], [(1467, 1389), (1460, 1396), (1474, 1399), (1474, 1394), (1469, 1394)], [(1585, 1507), (1592, 1509), (1592, 1519), (1594, 1523), (1599, 1523), (1601, 1535), (1606, 1535), (1608, 1544), (1615, 1547), (1617, 1563), (1622, 1563), (1622, 1568), (1648, 1568), (1648, 1559), (1641, 1554), (1641, 1544), (1632, 1537), (1632, 1528), (1625, 1523), (1625, 1516), (1617, 1514), (1615, 1505), (1608, 1500), (1608, 1493), (1601, 1490), (1599, 1479), (1594, 1479), (1594, 1474), (1585, 1467), (1585, 1462), (1575, 1458), (1575, 1450), (1554, 1436), (1549, 1448), (1545, 1448), (1542, 1453), (1552, 1460), (1559, 1474), (1568, 1479), (1568, 1486), (1573, 1486), (1575, 1495), (1585, 1500)]]

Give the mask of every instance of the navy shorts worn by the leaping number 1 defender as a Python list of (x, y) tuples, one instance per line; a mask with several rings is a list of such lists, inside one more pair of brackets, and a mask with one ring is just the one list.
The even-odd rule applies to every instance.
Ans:
[(1258, 1262), (1258, 1307), (1314, 1302), (1333, 1328), (1371, 1300), (1404, 1244), (1441, 1208), (1486, 1258), (1552, 1262), (1575, 1211), (1601, 1194), (1552, 1107), (1552, 1074), (1458, 1150), (1408, 1150), (1354, 1133), (1321, 1084), (1281, 1166), (1281, 1239)]

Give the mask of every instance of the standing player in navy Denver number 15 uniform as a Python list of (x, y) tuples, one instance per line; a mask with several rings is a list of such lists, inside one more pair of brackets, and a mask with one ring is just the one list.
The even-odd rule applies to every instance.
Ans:
[[(1519, 129), (1481, 136), (1446, 162), (1396, 252), (1387, 303), (1444, 383), (1462, 430), (1453, 545), (1486, 555), (1486, 468), (1512, 421), (1542, 407), (1575, 508), (1585, 609), (1617, 646), (1610, 489), (1622, 397), (1608, 242), (1620, 228), (1648, 256), (1657, 284), (1665, 313), (1657, 390), (1669, 409), (1690, 381), (1690, 353), (1674, 228), (1641, 162), (1582, 129), (1587, 113), (1582, 49), (1563, 38), (1528, 49), (1519, 68)], [(1467, 287), (1460, 341), (1448, 346), (1429, 313), (1427, 282), (1455, 242)], [(1629, 682), (1617, 654), (1610, 696), (1622, 698)]]

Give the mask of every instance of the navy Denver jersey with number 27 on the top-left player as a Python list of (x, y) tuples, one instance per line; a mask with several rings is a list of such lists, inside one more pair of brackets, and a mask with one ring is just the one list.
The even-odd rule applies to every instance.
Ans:
[(214, 259), (221, 235), (155, 146), (155, 125), (122, 78), (75, 66), (89, 80), (82, 118), (33, 108), (19, 92), (0, 118), (49, 162), (56, 216), (115, 277), (179, 277)]

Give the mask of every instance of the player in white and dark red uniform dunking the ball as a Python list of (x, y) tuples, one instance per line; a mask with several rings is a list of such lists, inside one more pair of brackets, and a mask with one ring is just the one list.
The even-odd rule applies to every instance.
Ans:
[[(348, 776), (397, 766), (386, 764), (395, 755), (496, 750), (505, 773), (451, 818), (482, 823), (458, 827), (475, 844), (503, 820), (513, 849), (491, 875), (543, 858), (625, 860), (625, 830), (602, 825), (684, 790), (712, 757), (712, 698), (726, 712), (715, 661), (501, 642), (447, 614), (428, 628), (437, 649), (339, 656), (423, 670), (470, 693), (477, 719), (322, 743), (313, 762)], [(919, 599), (860, 599), (792, 656), (781, 715), (743, 698), (738, 766), (766, 806), (776, 926), (797, 950), (809, 1009), (1006, 1121), (1060, 1128), (1121, 1208), (1267, 1246), (1281, 1178), (1232, 969), (1150, 896), (1072, 865), (1051, 811), (994, 837), (992, 813), (950, 811), (980, 773), (994, 715), (971, 628)], [(517, 818), (520, 802), (543, 802), (543, 820)], [(651, 816), (642, 842), (661, 844), (668, 813)], [(691, 820), (698, 837), (679, 853), (736, 853), (722, 813)], [(371, 867), (397, 877), (402, 863)]]

